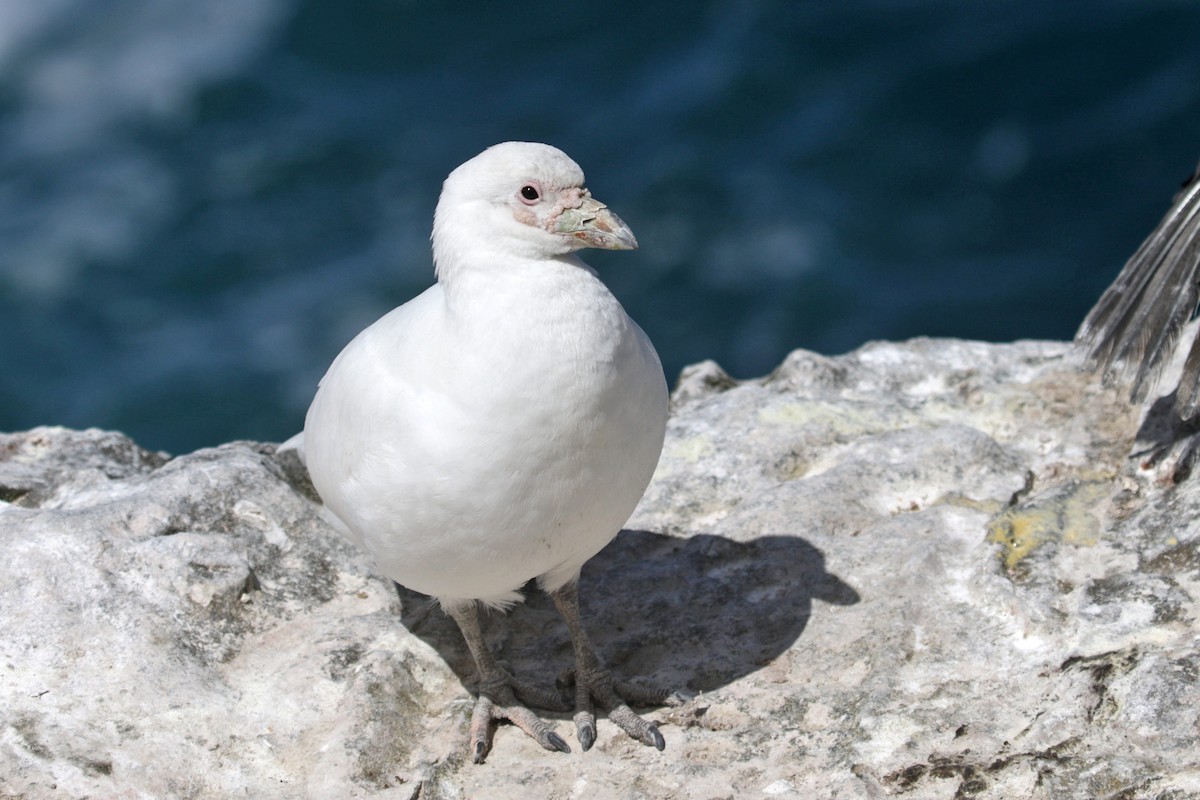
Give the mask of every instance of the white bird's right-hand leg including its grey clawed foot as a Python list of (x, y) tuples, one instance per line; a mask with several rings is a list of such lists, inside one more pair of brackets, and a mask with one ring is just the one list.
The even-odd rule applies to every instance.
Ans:
[(682, 705), (688, 696), (671, 690), (648, 690), (632, 684), (613, 681), (612, 673), (600, 662), (580, 619), (580, 589), (572, 581), (551, 593), (558, 613), (566, 620), (575, 646), (575, 729), (583, 750), (589, 750), (596, 740), (596, 721), (593, 700), (608, 710), (608, 718), (625, 733), (642, 744), (659, 750), (666, 746), (658, 726), (630, 710), (635, 705)]

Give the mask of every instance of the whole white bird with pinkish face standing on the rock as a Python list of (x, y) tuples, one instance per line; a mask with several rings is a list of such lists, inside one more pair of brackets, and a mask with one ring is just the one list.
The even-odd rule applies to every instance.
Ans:
[(450, 173), (432, 241), (437, 283), (359, 333), (320, 381), (304, 429), (313, 486), (384, 575), (436, 597), (462, 630), (480, 674), (476, 763), (500, 718), (570, 752), (517, 699), (562, 698), (510, 675), (480, 632), (479, 606), (508, 607), (534, 578), (570, 631), (583, 750), (593, 703), (662, 750), (626, 702), (685, 696), (614, 684), (577, 593), (654, 473), (667, 389), (646, 333), (575, 252), (637, 242), (574, 161), (526, 142)]

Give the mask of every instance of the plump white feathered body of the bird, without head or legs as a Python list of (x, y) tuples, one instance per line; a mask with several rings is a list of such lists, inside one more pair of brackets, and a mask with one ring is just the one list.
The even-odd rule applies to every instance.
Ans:
[(641, 329), (574, 258), (460, 276), (360, 333), (305, 422), (313, 485), (443, 600), (554, 589), (629, 518), (666, 426)]

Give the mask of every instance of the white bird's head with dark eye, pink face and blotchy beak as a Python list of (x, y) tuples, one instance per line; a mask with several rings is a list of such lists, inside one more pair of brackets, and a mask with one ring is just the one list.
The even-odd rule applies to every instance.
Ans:
[(583, 170), (547, 144), (505, 142), (446, 178), (433, 216), (439, 275), (469, 253), (556, 258), (583, 247), (634, 249), (620, 218), (583, 187)]

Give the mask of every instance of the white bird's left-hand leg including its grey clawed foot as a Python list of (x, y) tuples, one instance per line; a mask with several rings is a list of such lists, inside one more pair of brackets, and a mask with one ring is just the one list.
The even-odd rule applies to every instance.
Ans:
[(467, 639), (467, 648), (470, 649), (470, 655), (475, 658), (475, 667), (479, 669), (479, 699), (475, 700), (475, 709), (470, 715), (472, 760), (482, 764), (487, 757), (487, 751), (491, 748), (491, 727), (494, 720), (508, 720), (533, 736), (546, 750), (571, 752), (562, 736), (517, 699), (520, 697), (530, 705), (559, 709), (563, 705), (562, 698), (553, 692), (517, 680), (496, 662), (487, 645), (484, 644), (476, 603), (449, 606), (446, 613), (458, 624), (458, 630)]

